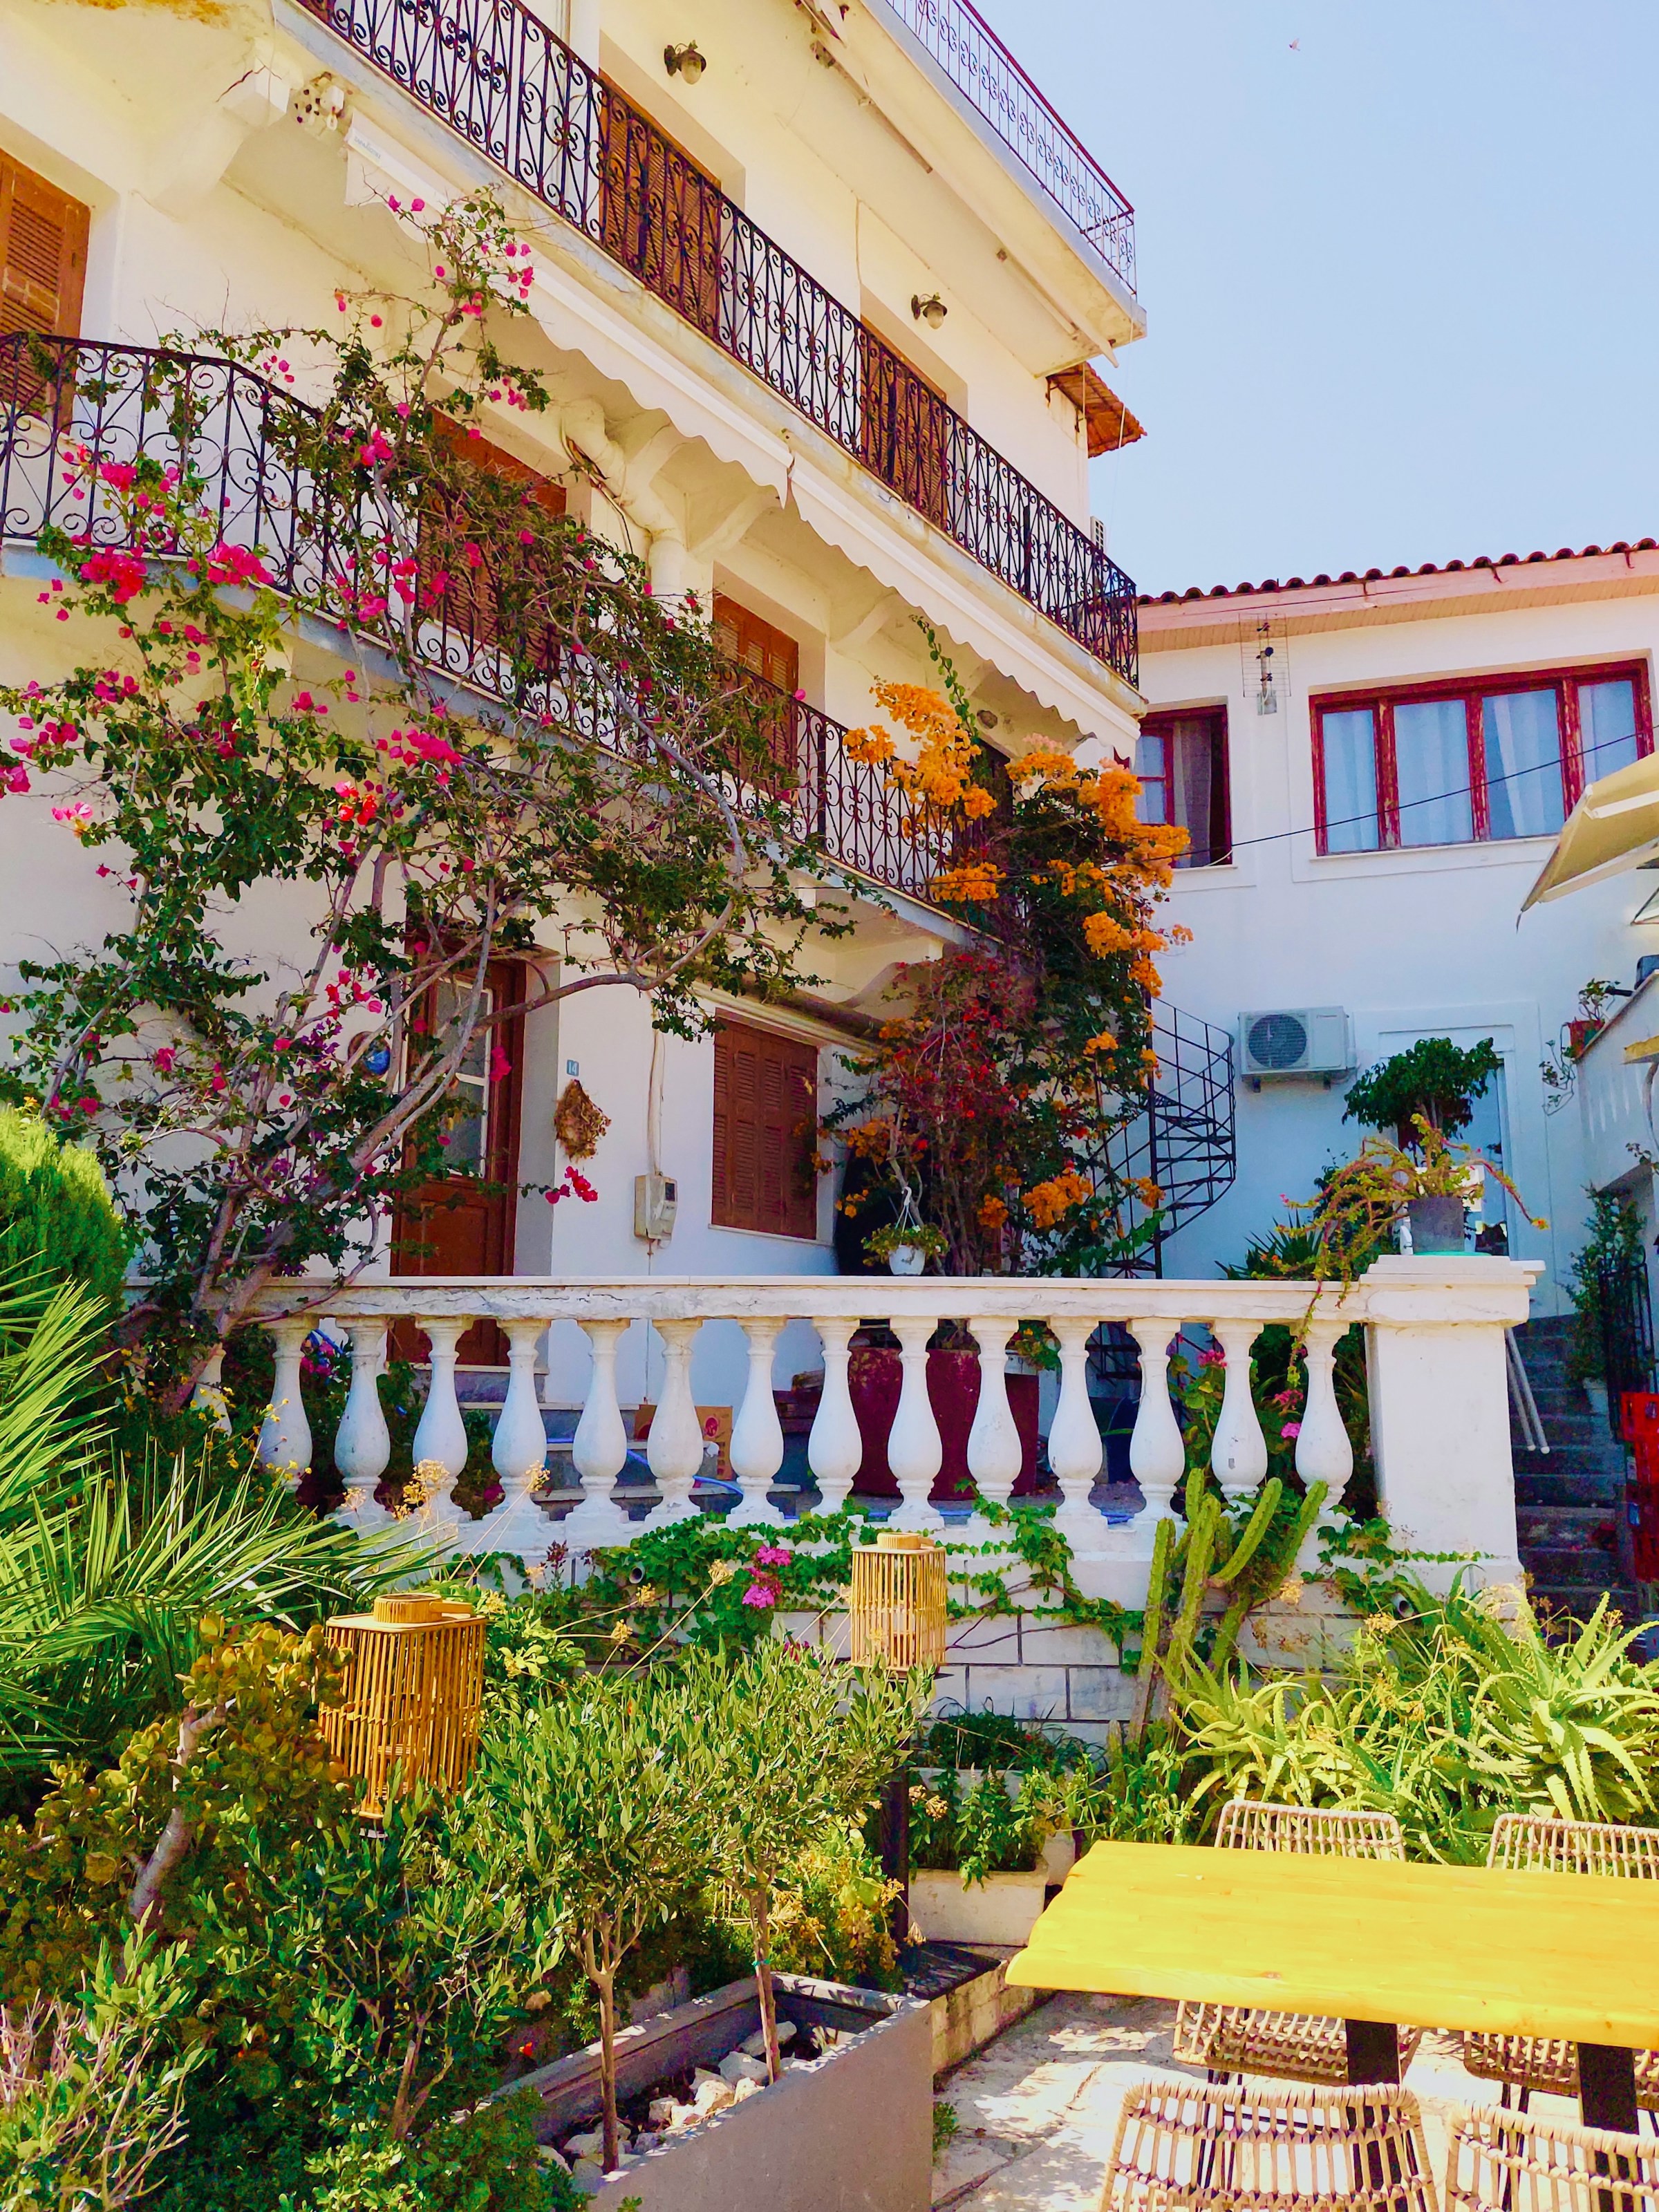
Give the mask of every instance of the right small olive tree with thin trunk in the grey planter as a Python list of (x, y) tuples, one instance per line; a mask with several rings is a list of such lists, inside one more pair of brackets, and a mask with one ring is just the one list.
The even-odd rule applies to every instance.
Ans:
[(929, 1674), (852, 1677), (776, 1637), (732, 1661), (714, 1652), (686, 1659), (686, 1694), (699, 1714), (699, 1843), (748, 1916), (774, 2081), (772, 1907), (783, 1871), (832, 1823), (863, 1820), (909, 1743), (929, 1686)]

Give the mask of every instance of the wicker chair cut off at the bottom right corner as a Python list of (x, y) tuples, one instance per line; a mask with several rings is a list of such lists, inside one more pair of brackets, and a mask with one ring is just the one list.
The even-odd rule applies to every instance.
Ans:
[(1659, 2212), (1659, 2143), (1502, 2106), (1464, 2112), (1447, 2152), (1447, 2212)]

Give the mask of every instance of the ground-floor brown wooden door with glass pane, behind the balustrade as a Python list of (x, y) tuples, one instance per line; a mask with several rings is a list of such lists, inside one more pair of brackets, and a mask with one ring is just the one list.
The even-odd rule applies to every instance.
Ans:
[[(520, 1004), (522, 969), (511, 960), (491, 960), (487, 995), (489, 1013)], [(425, 1020), (436, 1024), (438, 1035), (453, 1026), (460, 1002), (456, 984), (438, 984), (431, 993)], [(394, 1276), (513, 1272), (522, 1060), (522, 1015), (473, 1031), (456, 1095), (442, 1108), (451, 1168), (398, 1208), (392, 1225)], [(425, 1356), (416, 1349), (414, 1329), (398, 1325), (394, 1356)], [(500, 1367), (504, 1360), (507, 1340), (493, 1321), (467, 1329), (462, 1367)]]

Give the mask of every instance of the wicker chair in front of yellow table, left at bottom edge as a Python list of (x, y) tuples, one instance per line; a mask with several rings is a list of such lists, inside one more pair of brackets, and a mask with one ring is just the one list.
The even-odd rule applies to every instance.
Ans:
[(1418, 2099), (1365, 2088), (1128, 2090), (1102, 2212), (1438, 2212)]

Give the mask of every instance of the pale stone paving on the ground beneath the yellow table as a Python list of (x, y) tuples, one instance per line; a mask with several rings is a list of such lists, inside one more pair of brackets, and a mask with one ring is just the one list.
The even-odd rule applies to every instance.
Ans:
[[(1051, 1997), (940, 2086), (958, 2132), (933, 2168), (933, 2205), (962, 2212), (1095, 2212), (1133, 2081), (1192, 2075), (1170, 2059), (1175, 2006), (1161, 1997)], [(1444, 2174), (1451, 2106), (1493, 2104), (1495, 2081), (1462, 2070), (1455, 2035), (1427, 2035), (1407, 2077), (1422, 2101), (1429, 2161)], [(1535, 2097), (1533, 2110), (1577, 2119)]]

